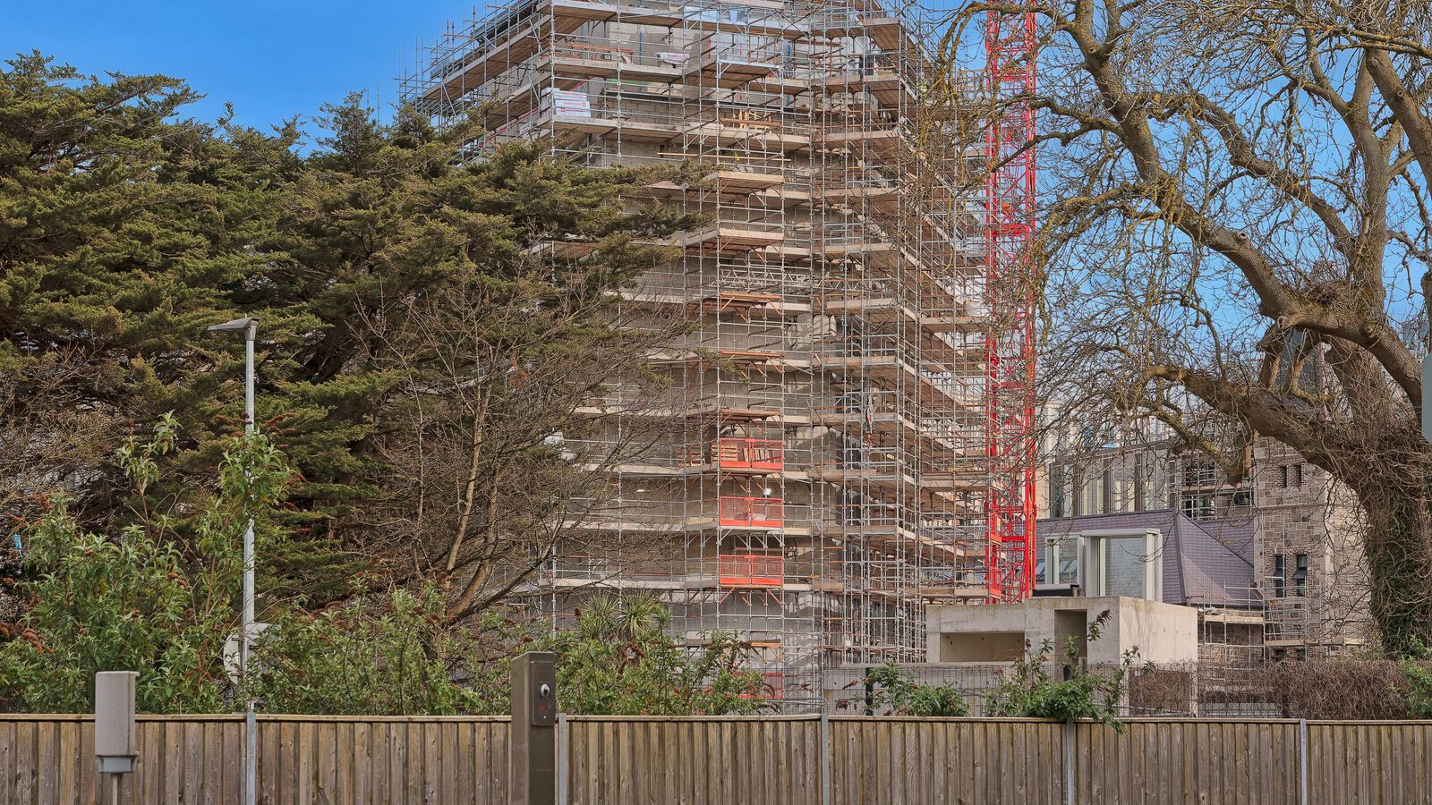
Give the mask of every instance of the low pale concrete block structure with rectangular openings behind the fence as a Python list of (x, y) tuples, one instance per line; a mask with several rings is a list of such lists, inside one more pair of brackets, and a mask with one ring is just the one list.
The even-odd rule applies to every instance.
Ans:
[[(1107, 613), (1107, 616), (1104, 614)], [(1104, 617), (1098, 640), (1088, 627)], [(1045, 640), (1063, 660), (1068, 640), (1091, 665), (1117, 665), (1126, 652), (1154, 665), (1199, 659), (1199, 612), (1128, 596), (1034, 597), (1022, 604), (931, 606), (927, 610), (931, 662), (1000, 663), (1018, 659), (1025, 645)]]

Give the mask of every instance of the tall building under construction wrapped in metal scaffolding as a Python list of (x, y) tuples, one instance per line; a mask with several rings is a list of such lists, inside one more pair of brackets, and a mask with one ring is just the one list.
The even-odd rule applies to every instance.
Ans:
[(706, 223), (623, 292), (629, 321), (689, 325), (652, 355), (669, 384), (607, 390), (583, 447), (662, 437), (571, 526), (607, 550), (546, 569), (550, 612), (654, 594), (693, 645), (748, 640), (798, 709), (823, 669), (924, 660), (925, 604), (1027, 594), (1032, 324), (1010, 255), (1032, 155), (990, 170), (1020, 143), (982, 123), (971, 145), (959, 109), (1000, 82), (937, 62), (879, 0), (531, 0), (450, 29), (405, 79), (438, 120), (481, 110), (484, 145), (696, 176), (647, 188)]

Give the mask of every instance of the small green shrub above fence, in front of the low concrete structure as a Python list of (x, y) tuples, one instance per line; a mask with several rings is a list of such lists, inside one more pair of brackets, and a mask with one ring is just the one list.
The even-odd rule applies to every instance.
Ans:
[[(1104, 610), (1088, 625), (1088, 642), (1098, 640), (1110, 612)], [(1091, 670), (1080, 656), (1073, 637), (1064, 646), (1063, 675), (1051, 672), (1054, 645), (1045, 640), (1040, 650), (1014, 660), (1010, 672), (990, 692), (985, 715), (995, 718), (1091, 719), (1118, 731), (1118, 705), (1126, 680), (1137, 660), (1137, 650), (1124, 653), (1123, 662), (1108, 675)]]

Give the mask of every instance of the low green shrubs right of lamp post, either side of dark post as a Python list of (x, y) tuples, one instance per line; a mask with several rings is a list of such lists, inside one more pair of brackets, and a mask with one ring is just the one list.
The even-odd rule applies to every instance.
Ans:
[(669, 614), (650, 599), (599, 596), (576, 629), (533, 635), (487, 616), (453, 627), (434, 587), (292, 613), (255, 647), (243, 689), (259, 708), (325, 715), (501, 715), (516, 655), (557, 655), (558, 706), (576, 715), (732, 715), (765, 706), (760, 675), (742, 670), (746, 649), (715, 635), (687, 652), (663, 632)]

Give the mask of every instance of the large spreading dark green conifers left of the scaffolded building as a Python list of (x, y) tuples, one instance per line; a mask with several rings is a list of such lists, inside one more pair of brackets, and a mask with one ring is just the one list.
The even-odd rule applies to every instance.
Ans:
[[(0, 384), (26, 387), (6, 418), (93, 411), (82, 450), (172, 411), (186, 438), (153, 457), (163, 473), (146, 494), (183, 497), (242, 411), (242, 345), (205, 327), (255, 315), (258, 418), (299, 478), (261, 592), (321, 604), (369, 582), (467, 574), (480, 582), (468, 603), (488, 603), (484, 569), (507, 563), (491, 546), (526, 550), (523, 529), (561, 504), (524, 481), (567, 480), (540, 438), (574, 433), (567, 400), (603, 382), (574, 375), (577, 360), (617, 381), (642, 354), (609, 319), (613, 291), (663, 259), (653, 239), (695, 219), (626, 202), (650, 172), (523, 143), (474, 160), (475, 119), (435, 129), (400, 110), (384, 125), (351, 96), (299, 153), (296, 125), (183, 119), (196, 97), (180, 80), (87, 77), (39, 54), (0, 70)], [(590, 249), (567, 259), (551, 241)], [(57, 360), (77, 371), (34, 392), (54, 385)], [(474, 405), (510, 368), (548, 391), (543, 404)], [(473, 443), (475, 463), (460, 450)], [(83, 527), (119, 529), (145, 504), (116, 506), (125, 470), (100, 453), (73, 457), (82, 471), (59, 486)], [(490, 501), (463, 494), (473, 466), (477, 488), (498, 490), (491, 529), (474, 516)]]

